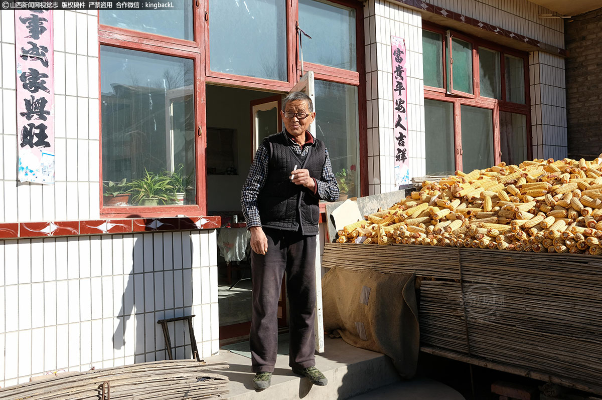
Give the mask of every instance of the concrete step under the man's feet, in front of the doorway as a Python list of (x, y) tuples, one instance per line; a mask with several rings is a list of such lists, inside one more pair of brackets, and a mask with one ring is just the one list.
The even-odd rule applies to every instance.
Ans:
[[(288, 355), (278, 355), (272, 386), (261, 392), (253, 389), (251, 360), (225, 350), (205, 358), (208, 363), (228, 363), (230, 368), (218, 371), (230, 379), (230, 400), (334, 400), (349, 399), (359, 393), (400, 381), (393, 363), (383, 354), (348, 345), (343, 339), (324, 340), (323, 354), (316, 354), (316, 366), (326, 375), (326, 386), (313, 386), (306, 378), (293, 374)], [(444, 399), (444, 398), (440, 398)]]

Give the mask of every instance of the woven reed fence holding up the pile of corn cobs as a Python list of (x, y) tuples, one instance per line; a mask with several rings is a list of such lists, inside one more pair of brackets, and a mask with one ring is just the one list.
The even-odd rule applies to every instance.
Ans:
[(602, 395), (602, 257), (329, 243), (323, 266), (414, 272), (421, 350)]

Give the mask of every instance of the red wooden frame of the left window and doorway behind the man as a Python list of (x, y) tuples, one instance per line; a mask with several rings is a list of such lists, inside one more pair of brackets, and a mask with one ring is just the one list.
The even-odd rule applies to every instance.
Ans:
[[(340, 82), (358, 87), (359, 103), (359, 166), (361, 171), (367, 171), (367, 113), (365, 85), (365, 60), (364, 60), (364, 7), (354, 0), (329, 0), (333, 4), (341, 4), (354, 8), (356, 11), (356, 66), (357, 71), (337, 69), (321, 66), (320, 64), (304, 63), (305, 70), (314, 70), (315, 79)], [(99, 99), (99, 126), (100, 126), (100, 204), (103, 217), (124, 217), (137, 215), (140, 217), (162, 217), (170, 215), (206, 215), (206, 109), (205, 87), (206, 84), (228, 85), (233, 87), (255, 90), (272, 91), (285, 94), (293, 88), (301, 76), (300, 60), (297, 48), (296, 22), (298, 16), (297, 0), (286, 2), (287, 18), (287, 74), (288, 81), (275, 81), (272, 79), (253, 78), (249, 76), (232, 75), (228, 73), (211, 71), (209, 64), (209, 0), (195, 0), (193, 7), (194, 40), (171, 38), (157, 34), (134, 31), (131, 29), (117, 28), (115, 26), (101, 25), (98, 17), (98, 49), (101, 46), (131, 49), (135, 51), (151, 52), (173, 57), (189, 58), (194, 60), (194, 118), (197, 129), (195, 136), (196, 146), (196, 205), (185, 206), (125, 206), (107, 207), (102, 203), (102, 115), (101, 99)], [(101, 71), (99, 57), (99, 73)], [(100, 82), (99, 82), (100, 93)], [(361, 194), (368, 192), (368, 176), (360, 177)]]

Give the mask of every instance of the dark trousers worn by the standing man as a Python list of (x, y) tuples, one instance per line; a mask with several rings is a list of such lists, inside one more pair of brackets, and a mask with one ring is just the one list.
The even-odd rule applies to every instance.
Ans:
[(251, 251), (253, 314), (249, 344), (253, 372), (273, 372), (278, 349), (278, 298), (284, 272), (290, 306), (292, 368), (315, 365), (315, 236), (264, 228), (268, 249)]

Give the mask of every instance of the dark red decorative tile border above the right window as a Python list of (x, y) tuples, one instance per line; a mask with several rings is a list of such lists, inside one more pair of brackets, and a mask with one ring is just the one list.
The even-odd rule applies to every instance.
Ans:
[(491, 23), (483, 22), (478, 19), (474, 19), (473, 17), (468, 17), (460, 13), (456, 13), (455, 11), (446, 10), (442, 7), (437, 7), (436, 5), (427, 3), (422, 0), (392, 0), (398, 3), (402, 3), (403, 5), (408, 5), (410, 7), (415, 7), (420, 10), (428, 11), (429, 13), (437, 14), (439, 16), (453, 19), (458, 22), (466, 23), (467, 25), (476, 26), (479, 29), (483, 29), (483, 31), (493, 32), (495, 34), (508, 37), (513, 40), (517, 40), (518, 42), (526, 43), (527, 45), (536, 46), (542, 51), (546, 52), (556, 52), (563, 57), (568, 57), (568, 51), (566, 49), (557, 48), (556, 46), (548, 45), (547, 43), (541, 43), (539, 40), (535, 40), (533, 38), (527, 37), (525, 35), (521, 35), (507, 29), (500, 28), (499, 26), (491, 25)]

